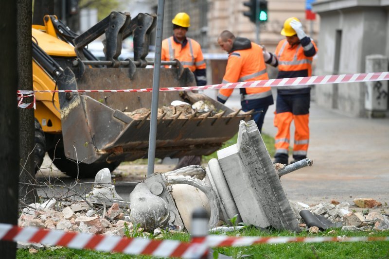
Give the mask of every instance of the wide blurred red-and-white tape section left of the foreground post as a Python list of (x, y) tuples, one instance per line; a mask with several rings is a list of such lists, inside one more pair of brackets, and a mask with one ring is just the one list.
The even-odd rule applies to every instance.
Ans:
[(92, 235), (37, 227), (21, 228), (11, 224), (0, 224), (0, 240), (33, 242), (46, 245), (60, 245), (74, 249), (91, 249), (101, 252), (119, 252), (129, 255), (152, 255), (157, 257), (200, 258), (208, 249), (205, 243), (122, 238), (119, 236)]

